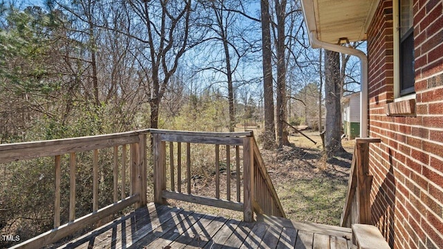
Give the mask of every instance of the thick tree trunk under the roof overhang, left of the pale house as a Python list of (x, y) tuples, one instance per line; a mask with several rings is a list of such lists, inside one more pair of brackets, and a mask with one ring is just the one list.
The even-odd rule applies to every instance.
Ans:
[(325, 50), (325, 150), (327, 158), (344, 151), (341, 145), (340, 54)]

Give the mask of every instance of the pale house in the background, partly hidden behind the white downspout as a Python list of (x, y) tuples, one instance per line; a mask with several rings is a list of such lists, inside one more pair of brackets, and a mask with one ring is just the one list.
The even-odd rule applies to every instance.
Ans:
[(343, 96), (343, 130), (345, 136), (354, 139), (360, 136), (360, 92)]

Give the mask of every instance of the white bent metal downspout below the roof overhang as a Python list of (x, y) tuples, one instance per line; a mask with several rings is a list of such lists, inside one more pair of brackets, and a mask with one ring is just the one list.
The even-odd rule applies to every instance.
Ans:
[(325, 48), (338, 53), (345, 53), (347, 55), (355, 55), (360, 59), (361, 71), (361, 94), (360, 94), (360, 137), (368, 138), (368, 57), (363, 51), (356, 48), (348, 48), (338, 44), (330, 44), (322, 42), (317, 39), (316, 33), (311, 31), (309, 33), (312, 47)]

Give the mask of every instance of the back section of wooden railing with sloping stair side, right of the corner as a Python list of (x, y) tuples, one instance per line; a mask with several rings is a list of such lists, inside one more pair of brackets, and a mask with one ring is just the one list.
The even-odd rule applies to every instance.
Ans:
[[(253, 137), (252, 131), (236, 133), (210, 133), (190, 131), (165, 131), (151, 129), (154, 143), (154, 201), (164, 204), (166, 199), (176, 199), (218, 208), (242, 211), (245, 221), (253, 221), (253, 212), (275, 216), (284, 216), (282, 205), (278, 199), (269, 174), (266, 172), (260, 151)], [(169, 144), (169, 190), (167, 183), (166, 166), (166, 143)], [(186, 144), (186, 165), (181, 164), (182, 143)], [(192, 162), (191, 144), (214, 145), (212, 164), (215, 170), (215, 196), (201, 196), (192, 192)], [(226, 185), (220, 182), (220, 148), (226, 150)], [(177, 148), (177, 156), (174, 154)], [(240, 153), (242, 149), (242, 153)], [(231, 150), (235, 151), (235, 159), (232, 160)], [(240, 156), (242, 154), (242, 157)], [(211, 156), (208, 155), (208, 158)], [(177, 163), (174, 163), (177, 158)], [(241, 160), (243, 167), (241, 167)], [(182, 169), (182, 167), (184, 169)], [(233, 167), (233, 169), (231, 169)], [(181, 172), (186, 172), (182, 178)], [(235, 178), (231, 174), (235, 172)], [(177, 176), (176, 176), (177, 173)], [(241, 184), (241, 176), (243, 184)], [(177, 178), (177, 182), (174, 178)], [(231, 186), (231, 180), (235, 183)], [(186, 190), (181, 190), (181, 183), (186, 183)], [(226, 188), (225, 199), (221, 198), (221, 184)], [(241, 186), (243, 185), (243, 190)], [(177, 187), (177, 188), (176, 188)], [(232, 190), (231, 190), (232, 188)], [(231, 193), (235, 192), (233, 200)], [(243, 192), (243, 196), (241, 196)], [(243, 198), (241, 198), (243, 197)]]

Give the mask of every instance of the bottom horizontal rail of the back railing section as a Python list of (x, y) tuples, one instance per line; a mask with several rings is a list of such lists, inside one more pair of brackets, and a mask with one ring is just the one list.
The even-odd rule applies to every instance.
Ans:
[(193, 195), (193, 194), (183, 194), (183, 193), (179, 193), (179, 192), (171, 192), (168, 190), (164, 190), (162, 192), (162, 194), (163, 194), (163, 198), (165, 198), (165, 199), (187, 201), (190, 203), (209, 205), (212, 207), (225, 208), (228, 210), (235, 210), (235, 211), (242, 211), (243, 210), (242, 203), (237, 203), (237, 202), (233, 202), (233, 201), (226, 201), (223, 199), (215, 199), (212, 197), (197, 196), (197, 195)]

